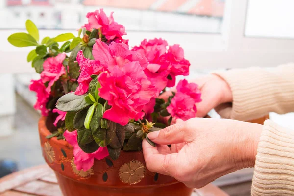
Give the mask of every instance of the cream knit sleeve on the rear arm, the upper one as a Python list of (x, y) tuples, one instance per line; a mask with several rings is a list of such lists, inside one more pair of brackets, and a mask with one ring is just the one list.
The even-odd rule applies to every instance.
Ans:
[(233, 93), (233, 103), (216, 108), (224, 118), (247, 121), (269, 112), (285, 114), (294, 111), (294, 63), (213, 74), (223, 78)]

